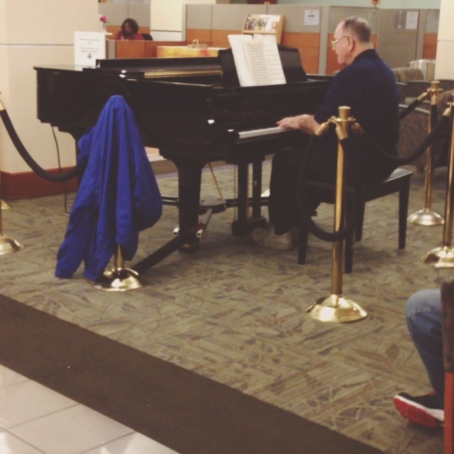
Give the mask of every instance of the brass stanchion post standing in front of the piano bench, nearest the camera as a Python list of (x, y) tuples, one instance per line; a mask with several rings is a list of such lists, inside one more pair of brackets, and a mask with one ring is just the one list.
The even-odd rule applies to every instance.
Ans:
[[(336, 118), (338, 139), (348, 138), (354, 121), (350, 118), (350, 107), (339, 107), (339, 118)], [(334, 230), (339, 231), (345, 225), (345, 162), (341, 143), (338, 144), (338, 163), (336, 175), (336, 200), (334, 204)], [(359, 304), (347, 299), (342, 294), (344, 240), (333, 243), (333, 260), (331, 274), (331, 295), (314, 301), (306, 312), (313, 319), (345, 323), (365, 319), (367, 312)]]

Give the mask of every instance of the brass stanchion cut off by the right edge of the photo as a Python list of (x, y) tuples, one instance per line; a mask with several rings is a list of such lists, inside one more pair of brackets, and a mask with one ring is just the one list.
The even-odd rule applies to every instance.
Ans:
[[(451, 121), (454, 127), (454, 97), (453, 101), (448, 103), (450, 109)], [(443, 114), (444, 115), (444, 114)], [(443, 226), (443, 245), (429, 251), (423, 255), (423, 263), (433, 265), (437, 268), (454, 268), (454, 248), (453, 248), (453, 197), (454, 189), (454, 133), (451, 128), (448, 182), (446, 183), (446, 201), (445, 201), (445, 225)]]

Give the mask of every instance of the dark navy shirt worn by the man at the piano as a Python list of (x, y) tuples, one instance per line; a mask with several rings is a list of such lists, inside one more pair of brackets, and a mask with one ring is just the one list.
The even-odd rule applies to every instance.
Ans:
[[(351, 65), (336, 74), (325, 99), (316, 111), (316, 121), (323, 123), (331, 116), (337, 117), (339, 106), (349, 106), (350, 115), (372, 141), (387, 153), (397, 155), (399, 95), (396, 79), (374, 49), (361, 52)], [(333, 158), (336, 149), (336, 133), (330, 132), (323, 139), (320, 151)], [(386, 162), (385, 158), (374, 156), (370, 150), (362, 154), (360, 160), (365, 174), (363, 177), (376, 176), (381, 179), (382, 173), (389, 174), (392, 171), (392, 165)]]

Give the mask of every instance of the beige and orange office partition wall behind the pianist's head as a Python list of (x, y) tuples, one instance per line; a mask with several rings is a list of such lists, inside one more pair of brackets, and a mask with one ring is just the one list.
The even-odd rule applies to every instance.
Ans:
[[(319, 14), (318, 25), (305, 25), (306, 11)], [(228, 35), (241, 33), (248, 13), (282, 14), (282, 45), (298, 48), (306, 72), (332, 74), (340, 69), (331, 50), (337, 24), (348, 16), (367, 18), (372, 28), (372, 42), (390, 67), (405, 66), (411, 60), (436, 57), (438, 10), (378, 9), (355, 6), (319, 5), (188, 5), (186, 37), (213, 47), (228, 47)], [(414, 29), (406, 18), (417, 14)], [(402, 23), (399, 23), (399, 19)]]

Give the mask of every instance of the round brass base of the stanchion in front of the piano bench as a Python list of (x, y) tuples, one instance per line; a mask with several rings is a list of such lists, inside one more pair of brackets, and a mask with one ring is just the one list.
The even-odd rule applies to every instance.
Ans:
[(313, 319), (331, 323), (360, 321), (367, 317), (367, 312), (359, 304), (335, 294), (317, 299), (306, 312), (309, 312)]

